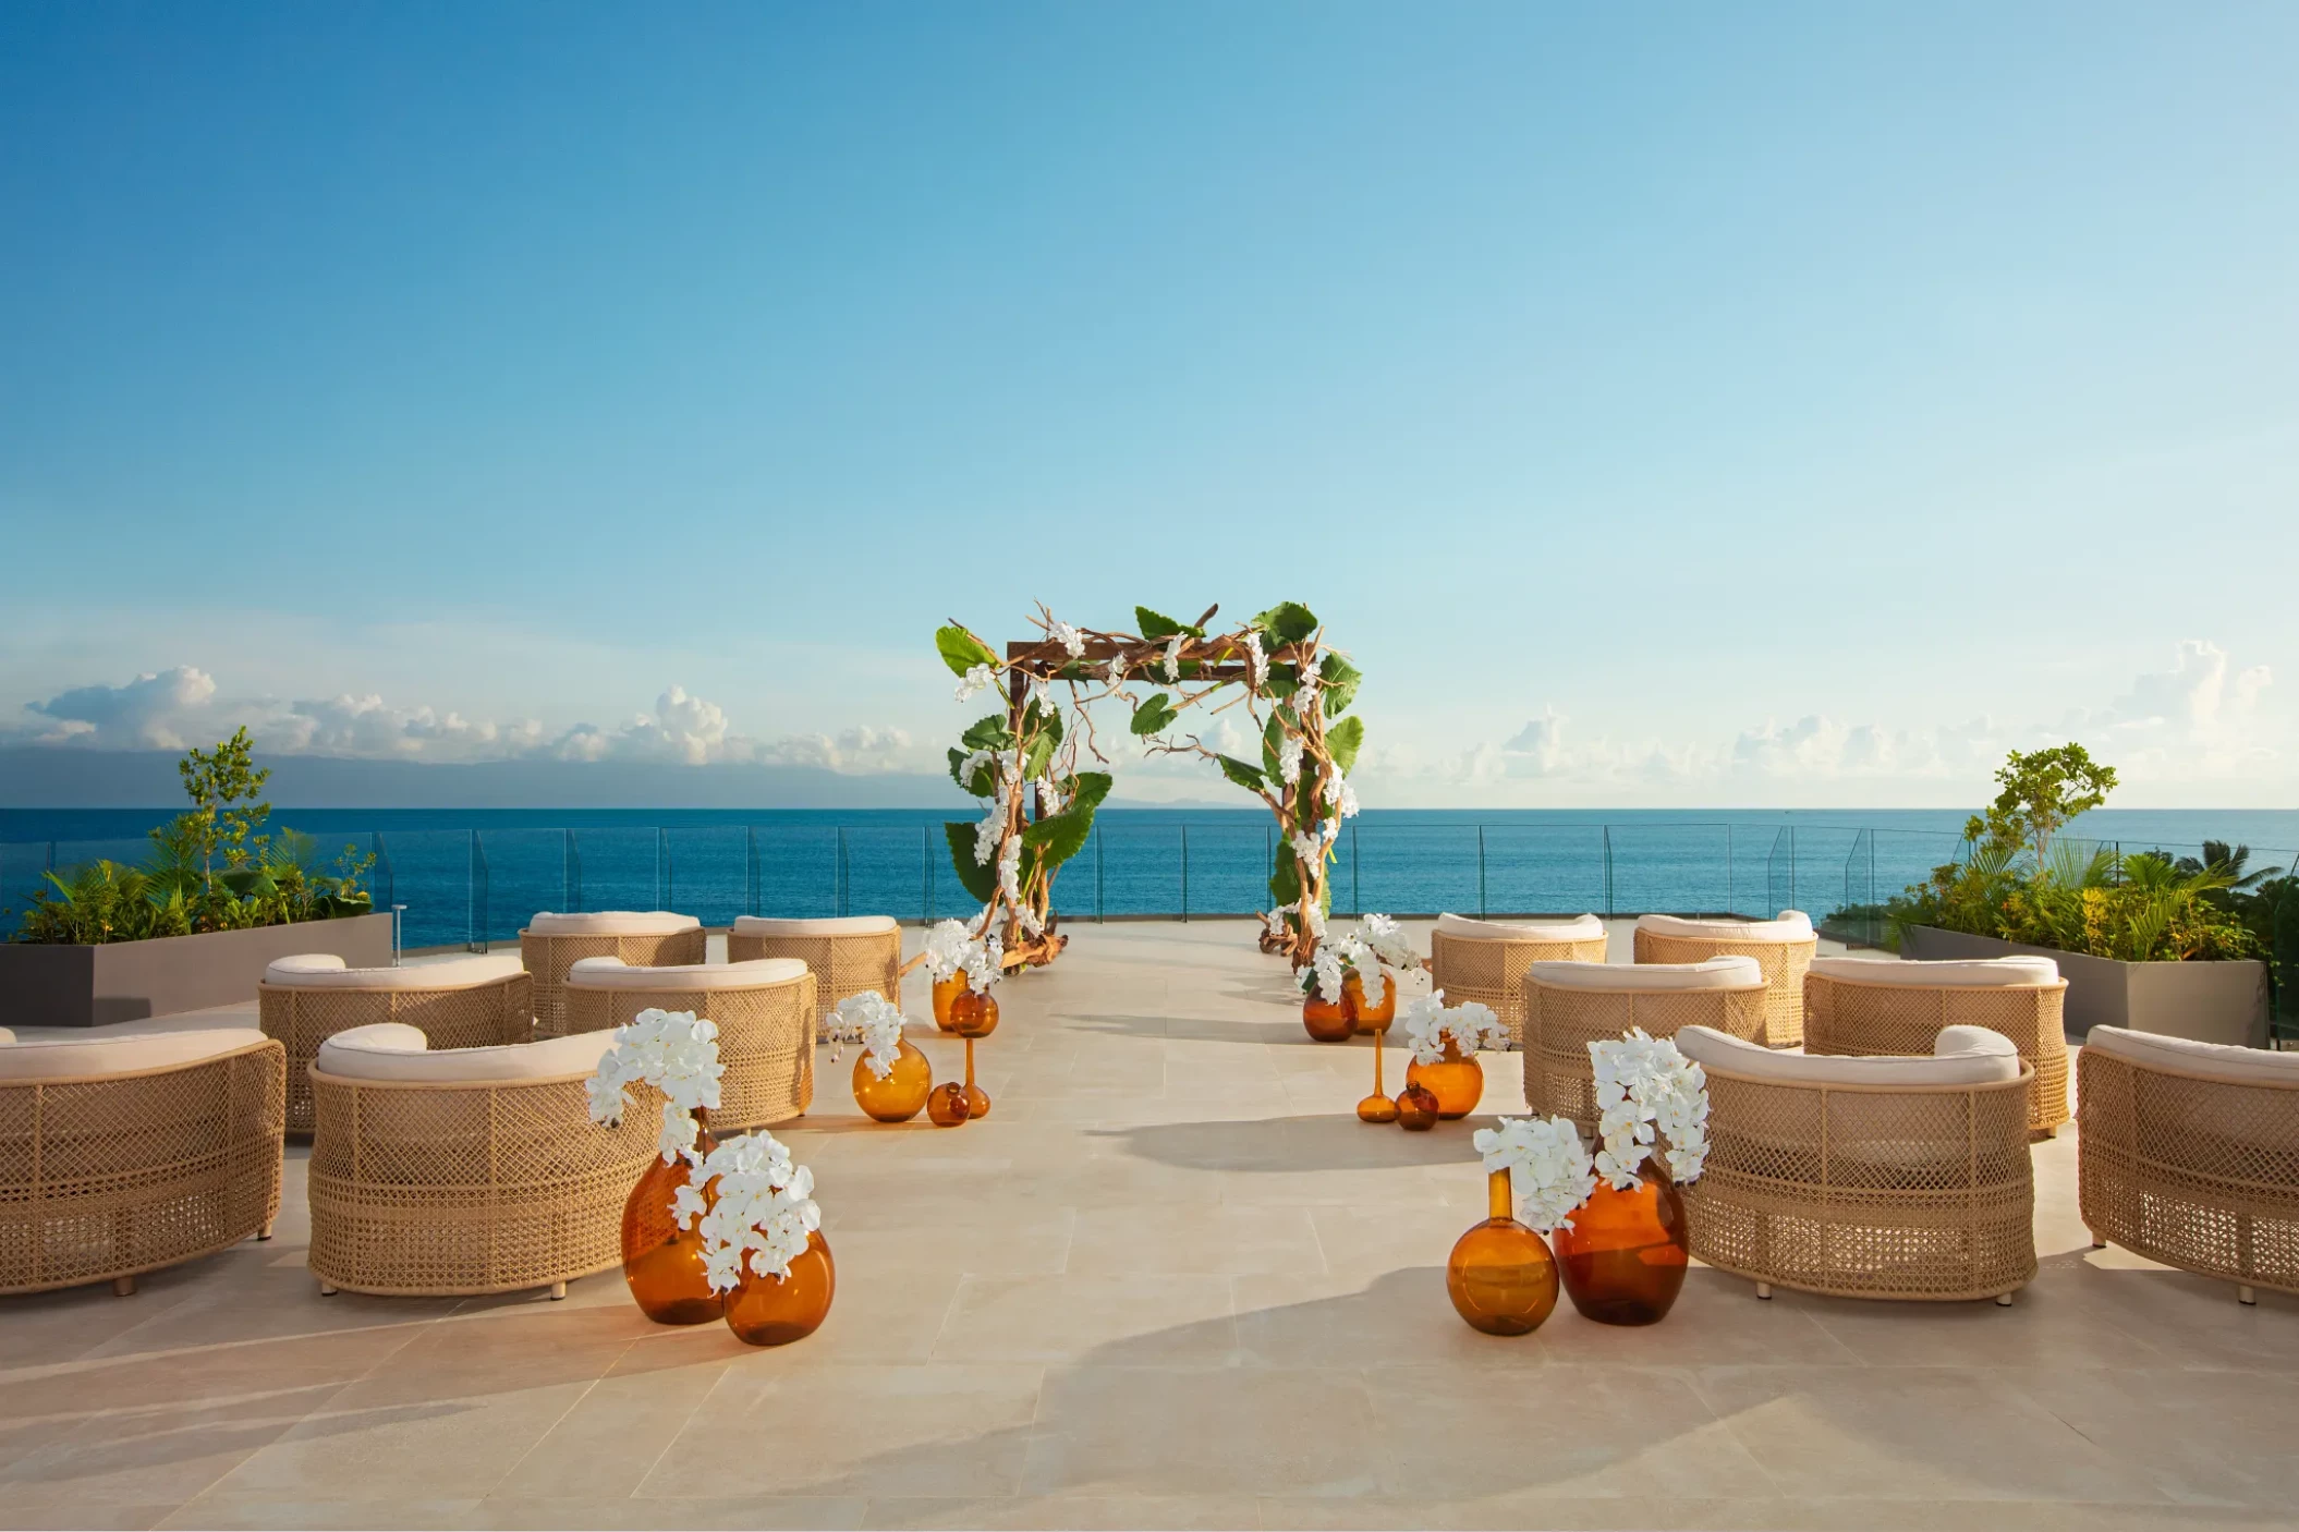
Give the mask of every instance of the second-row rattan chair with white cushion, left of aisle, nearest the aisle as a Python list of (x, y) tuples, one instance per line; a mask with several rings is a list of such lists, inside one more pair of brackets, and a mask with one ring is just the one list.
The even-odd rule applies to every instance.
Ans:
[(568, 973), (568, 1033), (623, 1026), (641, 1010), (692, 1010), (717, 1021), (720, 1104), (710, 1127), (763, 1127), (814, 1102), (816, 985), (795, 957), (747, 964), (632, 968), (589, 957)]

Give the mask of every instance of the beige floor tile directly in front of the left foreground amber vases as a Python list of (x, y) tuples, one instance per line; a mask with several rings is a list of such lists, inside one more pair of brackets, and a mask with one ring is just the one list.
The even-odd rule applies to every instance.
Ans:
[[(749, 1495), (1009, 1495), (1039, 1366), (809, 1366), (759, 1353), (726, 1371), (639, 1486)], [(775, 1442), (761, 1451), (761, 1442)]]

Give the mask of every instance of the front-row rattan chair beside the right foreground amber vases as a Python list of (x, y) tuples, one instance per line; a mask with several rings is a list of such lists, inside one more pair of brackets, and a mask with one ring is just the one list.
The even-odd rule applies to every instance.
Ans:
[(2012, 1302), (2035, 1277), (2028, 1081), (2009, 1037), (1950, 1026), (1929, 1058), (1807, 1058), (1687, 1026), (1708, 1074), (1692, 1254), (1835, 1297)]

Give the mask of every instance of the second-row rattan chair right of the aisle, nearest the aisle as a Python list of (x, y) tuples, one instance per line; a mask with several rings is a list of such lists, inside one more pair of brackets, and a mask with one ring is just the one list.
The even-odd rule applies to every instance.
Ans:
[(1524, 971), (1524, 1104), (1536, 1116), (1563, 1113), (1596, 1132), (1591, 1042), (1632, 1026), (1674, 1037), (1710, 1026), (1763, 1040), (1763, 971), (1752, 957), (1704, 964), (1533, 964)]

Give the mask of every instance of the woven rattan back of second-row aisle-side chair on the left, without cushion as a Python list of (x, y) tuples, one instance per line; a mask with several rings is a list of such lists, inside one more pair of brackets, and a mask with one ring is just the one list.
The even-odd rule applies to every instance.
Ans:
[[(759, 989), (591, 989), (568, 985), (570, 1033), (628, 1024), (641, 1010), (692, 1010), (717, 1021), (720, 1104), (710, 1129), (766, 1127), (814, 1104), (814, 975), (800, 973)], [(722, 1134), (724, 1136), (724, 1134)]]

